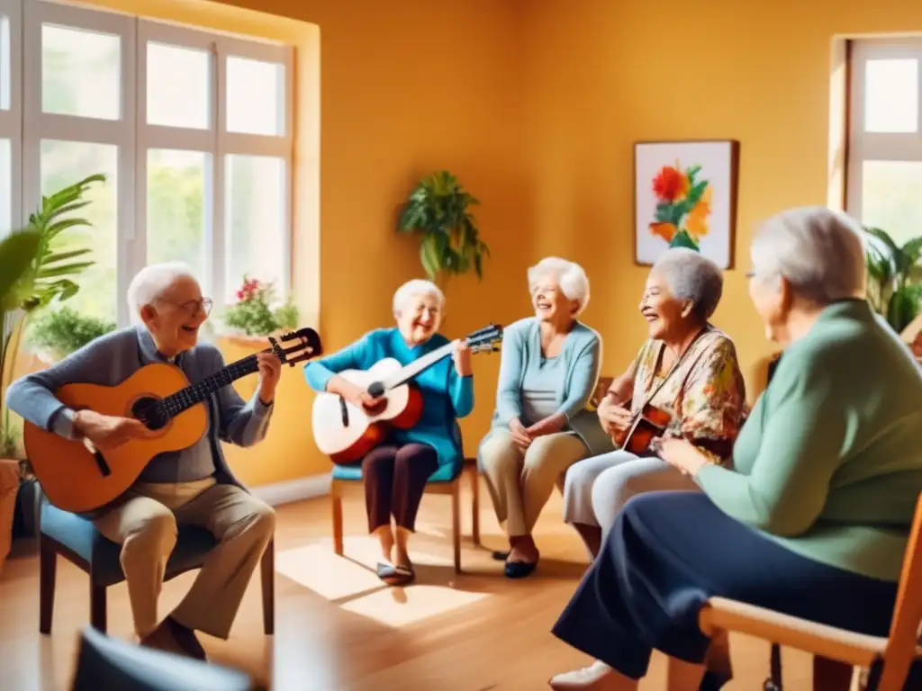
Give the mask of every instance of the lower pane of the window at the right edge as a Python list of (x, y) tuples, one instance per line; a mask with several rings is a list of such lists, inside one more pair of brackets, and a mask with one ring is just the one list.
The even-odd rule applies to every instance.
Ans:
[(861, 221), (898, 244), (922, 235), (922, 161), (866, 160), (861, 167)]

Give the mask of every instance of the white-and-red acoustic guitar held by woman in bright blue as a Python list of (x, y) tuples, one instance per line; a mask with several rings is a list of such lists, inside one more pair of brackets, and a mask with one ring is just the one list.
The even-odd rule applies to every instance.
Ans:
[[(502, 341), (502, 326), (491, 324), (465, 339), (474, 353), (492, 353)], [(313, 402), (313, 439), (333, 463), (353, 463), (364, 458), (386, 437), (391, 427), (409, 429), (422, 414), (422, 393), (411, 380), (449, 357), (455, 349), (447, 343), (406, 367), (393, 357), (378, 360), (370, 369), (345, 369), (337, 374), (360, 386), (381, 404), (373, 411), (350, 404), (336, 393), (319, 392)]]

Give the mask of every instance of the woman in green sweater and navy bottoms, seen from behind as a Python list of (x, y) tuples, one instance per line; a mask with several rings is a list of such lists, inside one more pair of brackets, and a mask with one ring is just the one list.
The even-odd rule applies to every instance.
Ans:
[(597, 658), (554, 689), (637, 688), (651, 650), (696, 689), (709, 641), (701, 605), (722, 596), (887, 636), (922, 491), (922, 376), (869, 308), (860, 228), (802, 208), (751, 246), (750, 296), (784, 348), (733, 449), (660, 455), (703, 492), (632, 498), (553, 632)]

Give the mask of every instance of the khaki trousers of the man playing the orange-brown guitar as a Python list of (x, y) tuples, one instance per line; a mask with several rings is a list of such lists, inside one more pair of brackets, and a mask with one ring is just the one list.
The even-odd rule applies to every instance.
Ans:
[(218, 545), (171, 617), (184, 627), (228, 638), (243, 592), (275, 531), (275, 511), (240, 487), (219, 485), (209, 477), (178, 484), (137, 483), (94, 523), (122, 545), (138, 638), (160, 623), (157, 600), (178, 527), (195, 525), (214, 534)]

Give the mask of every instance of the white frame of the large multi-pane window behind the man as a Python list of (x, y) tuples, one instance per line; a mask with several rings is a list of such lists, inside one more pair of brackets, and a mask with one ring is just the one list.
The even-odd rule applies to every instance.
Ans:
[[(25, 11), (17, 30), (14, 10)], [(11, 11), (6, 13), (6, 6)], [(118, 291), (116, 300), (119, 324), (129, 322), (128, 307), (123, 296), (131, 277), (147, 264), (147, 198), (148, 149), (186, 149), (207, 155), (203, 208), (205, 209), (205, 246), (211, 250), (205, 262), (203, 290), (215, 300), (217, 307), (225, 304), (229, 294), (227, 280), (226, 194), (224, 184), (225, 157), (228, 155), (266, 156), (284, 161), (283, 222), (286, 231), (282, 275), (278, 276), (278, 295), (286, 299), (292, 283), (293, 214), (292, 214), (292, 153), (294, 149), (294, 51), (268, 41), (234, 36), (178, 26), (147, 18), (136, 18), (104, 9), (89, 9), (59, 5), (46, 0), (0, 0), (0, 14), (11, 17), (13, 49), (21, 46), (22, 69), (13, 60), (13, 111), (0, 111), (0, 137), (6, 136), (6, 120), (19, 123), (21, 136), (13, 137), (14, 159), (14, 226), (17, 206), (31, 209), (41, 200), (41, 140), (57, 139), (74, 142), (110, 144), (119, 147), (117, 169), (118, 249), (116, 259)], [(101, 33), (115, 34), (121, 39), (121, 111), (117, 121), (83, 118), (41, 111), (41, 25), (45, 23), (70, 26)], [(20, 39), (20, 37), (22, 37)], [(148, 41), (180, 48), (207, 51), (211, 56), (210, 111), (207, 129), (150, 125), (147, 123), (147, 45)], [(16, 54), (16, 53), (14, 53)], [(227, 59), (230, 56), (251, 58), (284, 66), (285, 102), (284, 132), (278, 136), (242, 135), (226, 129)], [(17, 80), (22, 99), (16, 98)], [(21, 102), (21, 107), (19, 103)], [(12, 131), (12, 130), (10, 130)], [(22, 142), (21, 152), (18, 142)], [(22, 170), (21, 190), (18, 190), (18, 167)], [(88, 171), (88, 174), (92, 171)], [(28, 217), (28, 213), (24, 215)]]

